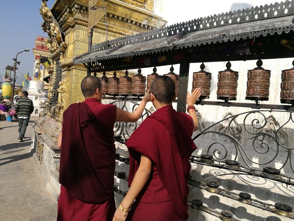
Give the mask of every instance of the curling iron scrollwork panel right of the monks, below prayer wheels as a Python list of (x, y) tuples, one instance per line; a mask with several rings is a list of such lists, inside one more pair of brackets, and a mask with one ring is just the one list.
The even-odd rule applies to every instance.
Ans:
[[(265, 115), (265, 113), (276, 112), (284, 113), (288, 116), (288, 120), (281, 126), (273, 115), (269, 117)], [(244, 163), (246, 168), (252, 170), (256, 169), (254, 164), (261, 166), (280, 163), (281, 166), (275, 166), (279, 167), (276, 169), (286, 169), (285, 167), (287, 166), (294, 173), (294, 161), (292, 159), (294, 146), (291, 146), (293, 144), (288, 142), (288, 134), (283, 130), (286, 128), (286, 125), (294, 123), (293, 112), (253, 110), (236, 115), (227, 115), (223, 120), (201, 131), (193, 140), (201, 136), (209, 136), (209, 134), (218, 135), (207, 148), (207, 154), (213, 155), (216, 161), (224, 159), (238, 160)], [(237, 122), (240, 118), (243, 118), (243, 125)], [(224, 124), (227, 126), (223, 126)], [(288, 128), (294, 127), (290, 126)], [(269, 154), (268, 158), (264, 157), (265, 154)], [(256, 159), (253, 159), (254, 157)]]

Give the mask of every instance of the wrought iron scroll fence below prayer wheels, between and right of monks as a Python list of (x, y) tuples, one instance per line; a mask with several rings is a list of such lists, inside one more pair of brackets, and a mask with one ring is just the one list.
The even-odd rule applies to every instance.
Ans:
[[(131, 100), (116, 100), (108, 103), (131, 112), (134, 112), (139, 105)], [(115, 140), (124, 144), (131, 133), (153, 112), (153, 109), (145, 108), (138, 122), (116, 122)], [(193, 156), (192, 161), (202, 164), (204, 159), (208, 159), (210, 166), (226, 168), (227, 165), (235, 165), (238, 166), (236, 170), (241, 169), (251, 174), (269, 172), (279, 175), (282, 170), (281, 182), (284, 178), (294, 179), (293, 175), (289, 176), (289, 173), (294, 174), (292, 153), (294, 146), (289, 142), (293, 139), (289, 137), (290, 133), (294, 133), (293, 112), (293, 110), (252, 110), (228, 115), (207, 128), (198, 115), (201, 131), (193, 140), (198, 138), (196, 144), (198, 140), (205, 140), (205, 144), (198, 146), (207, 156), (196, 155)], [(276, 113), (279, 113), (279, 116), (283, 115), (285, 122), (280, 124), (278, 117), (274, 116)], [(266, 168), (262, 168), (263, 166)]]

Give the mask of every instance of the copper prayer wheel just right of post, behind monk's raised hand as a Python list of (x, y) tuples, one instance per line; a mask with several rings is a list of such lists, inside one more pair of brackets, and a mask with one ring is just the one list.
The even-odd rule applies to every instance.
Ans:
[(201, 88), (201, 96), (199, 99), (208, 99), (210, 95), (211, 73), (204, 70), (205, 65), (200, 65), (200, 71), (193, 72), (192, 92), (196, 88)]

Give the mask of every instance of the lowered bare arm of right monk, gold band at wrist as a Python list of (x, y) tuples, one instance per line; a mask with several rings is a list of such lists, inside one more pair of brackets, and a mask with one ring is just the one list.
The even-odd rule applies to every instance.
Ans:
[[(151, 174), (152, 162), (144, 154), (141, 156), (140, 166), (135, 174), (131, 187), (126, 194), (125, 198), (121, 202), (123, 208), (128, 209), (141, 192)], [(120, 208), (117, 208), (112, 221), (124, 221), (126, 220), (126, 212), (123, 212)]]

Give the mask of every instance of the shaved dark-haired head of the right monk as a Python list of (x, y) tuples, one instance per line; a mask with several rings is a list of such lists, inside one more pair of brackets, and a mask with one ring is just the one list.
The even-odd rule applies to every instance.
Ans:
[(157, 77), (151, 85), (151, 93), (160, 103), (169, 104), (175, 95), (175, 83), (168, 76)]

